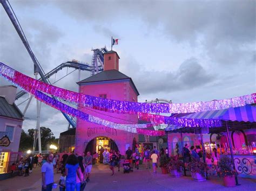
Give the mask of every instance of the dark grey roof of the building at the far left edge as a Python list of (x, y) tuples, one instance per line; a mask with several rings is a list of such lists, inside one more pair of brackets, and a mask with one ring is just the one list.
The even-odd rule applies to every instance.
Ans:
[(22, 112), (17, 105), (9, 104), (2, 96), (0, 96), (0, 116), (23, 120)]

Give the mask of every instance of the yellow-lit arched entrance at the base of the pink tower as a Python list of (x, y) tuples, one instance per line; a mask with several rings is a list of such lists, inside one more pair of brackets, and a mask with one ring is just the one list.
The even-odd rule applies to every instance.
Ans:
[(104, 148), (107, 148), (108, 150), (118, 151), (117, 144), (109, 137), (96, 137), (87, 144), (85, 148), (85, 153), (88, 151), (90, 151), (91, 154), (98, 153), (99, 157), (95, 160), (95, 162), (103, 163)]

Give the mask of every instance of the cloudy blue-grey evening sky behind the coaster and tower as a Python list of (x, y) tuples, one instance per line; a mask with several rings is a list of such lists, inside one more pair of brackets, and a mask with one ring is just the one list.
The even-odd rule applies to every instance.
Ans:
[[(220, 100), (256, 92), (256, 1), (9, 0), (45, 73), (65, 61), (91, 63), (92, 48), (113, 50), (119, 71), (132, 77), (139, 102)], [(0, 5), (0, 61), (33, 76), (33, 62)], [(53, 83), (72, 72), (52, 76)], [(80, 80), (90, 76), (82, 72)], [(78, 91), (75, 71), (55, 86)], [(10, 84), (0, 77), (0, 86)], [(19, 105), (28, 95), (19, 98)], [(24, 110), (26, 103), (18, 107)], [(36, 101), (23, 129), (36, 126)], [(57, 110), (42, 104), (41, 126), (56, 137), (68, 129)]]

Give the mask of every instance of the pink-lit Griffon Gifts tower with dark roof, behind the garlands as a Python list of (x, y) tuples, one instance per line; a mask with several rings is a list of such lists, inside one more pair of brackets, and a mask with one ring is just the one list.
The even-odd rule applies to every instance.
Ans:
[[(104, 71), (78, 82), (79, 92), (112, 100), (137, 102), (139, 92), (131, 77), (119, 72), (119, 59), (117, 52), (105, 53)], [(78, 109), (115, 123), (138, 123), (137, 115), (113, 114), (85, 108), (82, 105), (79, 105)], [(136, 141), (138, 141), (137, 134), (77, 119), (75, 152), (78, 154), (84, 151), (100, 153), (105, 147), (125, 154), (126, 148), (128, 146), (133, 148)]]

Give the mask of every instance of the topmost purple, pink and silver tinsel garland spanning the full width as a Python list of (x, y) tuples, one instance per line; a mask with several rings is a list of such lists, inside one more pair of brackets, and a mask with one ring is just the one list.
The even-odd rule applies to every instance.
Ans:
[(58, 88), (50, 84), (32, 79), (29, 76), (21, 74), (16, 70), (4, 65), (0, 62), (1, 74), (18, 84), (30, 92), (32, 89), (38, 89), (50, 95), (68, 100), (73, 103), (81, 103), (86, 107), (93, 109), (104, 110), (109, 112), (118, 112), (123, 114), (134, 114), (134, 112), (144, 113), (187, 113), (187, 112), (201, 112), (212, 111), (220, 109), (228, 109), (234, 107), (241, 107), (246, 104), (256, 103), (256, 94), (245, 95), (240, 97), (233, 97), (224, 100), (213, 100), (209, 102), (192, 102), (192, 103), (136, 103), (118, 100), (109, 100), (90, 95), (84, 95), (69, 91), (63, 88)]

